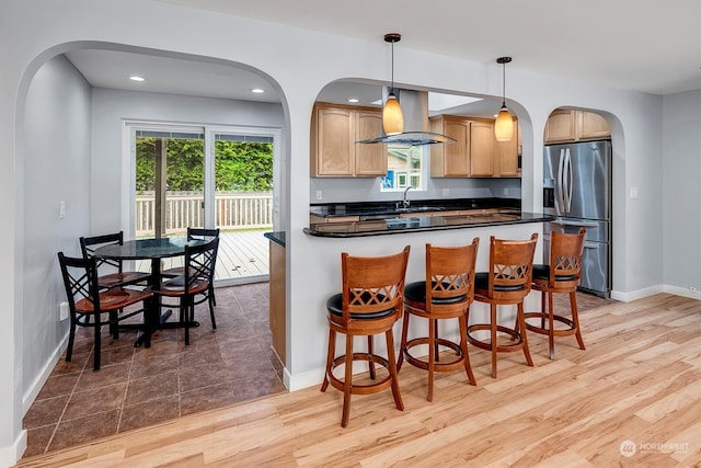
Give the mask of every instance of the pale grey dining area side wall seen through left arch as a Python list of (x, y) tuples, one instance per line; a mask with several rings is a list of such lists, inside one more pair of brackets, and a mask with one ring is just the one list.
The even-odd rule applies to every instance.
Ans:
[[(42, 66), (26, 96), (19, 235), (24, 248), (18, 252), (24, 272), (18, 283), (23, 310), (18, 370), (26, 404), (41, 389), (34, 386), (37, 378), (53, 369), (68, 331), (68, 320), (58, 320), (66, 293), (56, 253), (78, 255), (78, 237), (90, 219), (90, 93), (73, 66), (57, 57)], [(65, 218), (59, 218), (59, 202), (66, 205)]]

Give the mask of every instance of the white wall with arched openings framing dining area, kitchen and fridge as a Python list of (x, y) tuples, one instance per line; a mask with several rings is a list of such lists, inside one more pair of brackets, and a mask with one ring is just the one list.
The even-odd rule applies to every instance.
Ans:
[[(138, 14), (135, 14), (138, 12)], [(7, 19), (11, 19), (8, 21)], [(24, 323), (26, 305), (23, 301), (25, 277), (42, 277), (46, 264), (28, 263), (37, 246), (25, 243), (23, 209), (27, 204), (23, 174), (31, 162), (27, 147), (25, 114), (27, 88), (35, 71), (51, 57), (79, 47), (140, 46), (151, 52), (183, 53), (246, 64), (267, 76), (284, 95), (285, 116), (284, 171), (289, 182), (280, 205), (287, 221), (287, 318), (291, 340), (287, 355), (287, 370), (291, 375), (313, 370), (319, 349), (310, 349), (307, 334), (317, 330), (323, 310), (310, 309), (307, 271), (309, 259), (317, 254), (319, 239), (302, 232), (308, 224), (310, 198), (309, 135), (310, 116), (315, 96), (329, 82), (341, 78), (387, 80), (390, 52), (381, 41), (361, 41), (319, 34), (249, 21), (233, 15), (181, 8), (156, 0), (4, 0), (0, 3), (0, 48), (3, 65), (0, 73), (0, 219), (7, 228), (0, 230), (0, 465), (10, 463), (22, 450), (21, 398), (24, 365), (22, 339), (19, 330)], [(343, 50), (343, 54), (338, 54)], [(447, 56), (402, 50), (403, 60), (395, 64), (395, 75), (402, 77), (399, 87), (426, 87), (464, 94), (501, 94), (501, 68)], [(422, 64), (416, 67), (415, 64)], [(563, 105), (602, 111), (614, 127), (614, 201), (613, 201), (613, 289), (622, 298), (648, 294), (663, 282), (663, 113), (662, 98), (631, 91), (606, 89), (577, 80), (564, 80), (509, 69), (509, 98), (517, 110), (524, 130), (524, 173), (521, 195), (524, 208), (535, 210), (542, 203), (542, 135), (550, 112)], [(79, 99), (79, 101), (82, 100)], [(95, 118), (99, 118), (95, 116)], [(57, 119), (62, 127), (71, 122)], [(81, 125), (81, 124), (79, 124)], [(698, 145), (698, 142), (691, 142)], [(688, 149), (694, 149), (693, 147)], [(697, 155), (698, 155), (698, 147)], [(93, 147), (92, 158), (100, 159)], [(667, 156), (667, 155), (665, 155)], [(83, 175), (83, 167), (69, 164), (58, 175)], [(54, 157), (55, 158), (55, 157)], [(114, 169), (94, 165), (92, 173)], [(36, 161), (38, 165), (44, 161)], [(59, 163), (59, 160), (46, 162)], [(118, 179), (120, 174), (114, 173)], [(691, 175), (689, 175), (690, 178)], [(97, 196), (115, 198), (112, 193), (118, 180), (102, 181)], [(640, 198), (625, 196), (630, 187), (640, 190)], [(92, 194), (97, 189), (93, 189)], [(698, 199), (694, 203), (698, 204)], [(96, 208), (93, 208), (93, 213)], [(116, 209), (116, 208), (115, 208)], [(72, 212), (71, 212), (72, 213)], [(74, 239), (84, 231), (112, 222), (112, 218), (81, 219)], [(698, 219), (698, 216), (696, 217)], [(46, 239), (64, 233), (55, 220), (42, 226)], [(680, 219), (680, 222), (683, 220)], [(683, 225), (682, 225), (683, 226)], [(693, 225), (693, 228), (697, 226)], [(468, 233), (469, 235), (469, 233)], [(382, 246), (384, 242), (381, 243)], [(53, 247), (46, 249), (44, 261), (54, 258)], [(49, 250), (51, 250), (49, 252)], [(698, 264), (698, 261), (694, 262)], [(313, 267), (313, 265), (311, 266)], [(54, 286), (55, 287), (55, 286)], [(320, 292), (326, 293), (326, 292)], [(327, 292), (331, 293), (331, 292)], [(314, 303), (315, 304), (315, 303)], [(314, 340), (324, 341), (324, 336)], [(41, 356), (33, 356), (41, 361)], [(31, 381), (33, 376), (24, 379)]]

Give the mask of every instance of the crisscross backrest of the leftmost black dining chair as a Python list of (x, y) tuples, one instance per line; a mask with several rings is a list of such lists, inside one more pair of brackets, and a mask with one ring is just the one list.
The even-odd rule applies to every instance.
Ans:
[[(97, 288), (97, 261), (94, 256), (73, 258), (58, 252), (66, 298), (71, 311), (76, 311), (76, 303), (88, 299), (93, 303), (94, 311), (100, 313), (100, 289)], [(94, 300), (93, 298), (97, 298)]]

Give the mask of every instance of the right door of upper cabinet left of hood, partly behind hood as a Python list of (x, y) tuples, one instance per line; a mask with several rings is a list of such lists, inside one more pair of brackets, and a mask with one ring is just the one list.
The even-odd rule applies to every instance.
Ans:
[[(382, 134), (382, 114), (370, 111), (355, 113), (356, 141), (375, 138)], [(387, 145), (353, 144), (355, 150), (355, 174), (359, 176), (387, 175)]]

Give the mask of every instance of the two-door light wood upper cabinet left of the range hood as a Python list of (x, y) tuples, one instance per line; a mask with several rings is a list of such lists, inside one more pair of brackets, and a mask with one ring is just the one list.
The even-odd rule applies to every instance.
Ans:
[(311, 175), (387, 175), (386, 145), (356, 142), (381, 133), (382, 114), (377, 109), (317, 103), (311, 125)]

